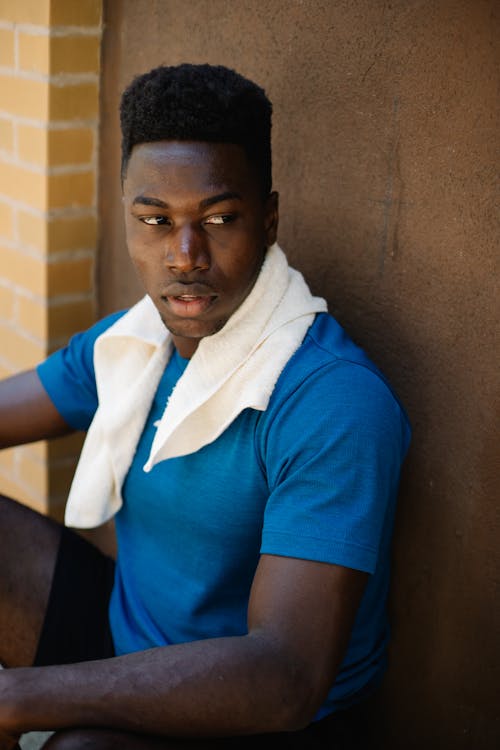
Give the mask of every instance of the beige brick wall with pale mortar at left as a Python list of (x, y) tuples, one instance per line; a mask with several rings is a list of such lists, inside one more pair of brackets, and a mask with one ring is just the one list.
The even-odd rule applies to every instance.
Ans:
[[(0, 377), (95, 319), (102, 0), (0, 0)], [(61, 517), (81, 436), (0, 453), (0, 492)]]

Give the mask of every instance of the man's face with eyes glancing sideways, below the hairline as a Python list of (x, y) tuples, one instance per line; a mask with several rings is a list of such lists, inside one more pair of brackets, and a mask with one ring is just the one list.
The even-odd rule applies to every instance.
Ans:
[(123, 201), (138, 276), (191, 357), (252, 289), (276, 240), (277, 194), (262, 199), (239, 146), (158, 141), (134, 147)]

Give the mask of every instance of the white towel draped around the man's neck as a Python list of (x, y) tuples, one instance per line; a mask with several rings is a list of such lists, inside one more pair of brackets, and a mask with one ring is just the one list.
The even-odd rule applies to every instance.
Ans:
[[(248, 297), (220, 331), (200, 341), (166, 404), (144, 470), (208, 445), (243, 409), (264, 411), (315, 314), (326, 310), (280, 247), (270, 247)], [(121, 487), (171, 352), (171, 336), (147, 296), (97, 339), (99, 407), (71, 486), (68, 526), (99, 526), (120, 509)]]

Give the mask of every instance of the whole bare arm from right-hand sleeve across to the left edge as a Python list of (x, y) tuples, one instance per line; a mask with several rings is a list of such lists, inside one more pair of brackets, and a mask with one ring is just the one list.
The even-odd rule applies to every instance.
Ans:
[(0, 730), (100, 726), (173, 736), (308, 724), (342, 660), (367, 576), (264, 555), (248, 634), (0, 673)]

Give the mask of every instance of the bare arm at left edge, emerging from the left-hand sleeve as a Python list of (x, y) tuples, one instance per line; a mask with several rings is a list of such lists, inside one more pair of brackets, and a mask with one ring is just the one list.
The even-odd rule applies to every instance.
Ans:
[(45, 391), (36, 370), (0, 382), (0, 448), (72, 432)]

